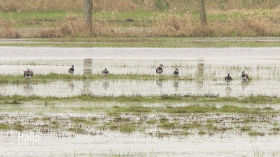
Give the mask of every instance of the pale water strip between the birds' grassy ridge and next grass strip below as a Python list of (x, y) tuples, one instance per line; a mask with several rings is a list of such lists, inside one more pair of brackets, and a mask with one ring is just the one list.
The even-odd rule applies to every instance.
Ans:
[(280, 80), (259, 80), (243, 82), (233, 80), (228, 86), (222, 80), (56, 80), (47, 83), (0, 84), (2, 95), (37, 95), (42, 97), (69, 97), (81, 94), (95, 96), (151, 96), (151, 95), (206, 95), (239, 97), (249, 95), (279, 96), (277, 86)]

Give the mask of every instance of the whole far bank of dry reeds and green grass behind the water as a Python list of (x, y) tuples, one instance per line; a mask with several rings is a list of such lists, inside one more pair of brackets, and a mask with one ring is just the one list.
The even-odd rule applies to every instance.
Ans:
[[(94, 1), (93, 33), (83, 20), (83, 0), (1, 1), (1, 38), (61, 37), (259, 37), (280, 36), (278, 1), (246, 0), (243, 3), (208, 1), (208, 25), (202, 26), (198, 2), (192, 0), (109, 0)], [(21, 31), (20, 18), (13, 14), (30, 13), (28, 23), (40, 26), (32, 33)], [(33, 21), (34, 12), (57, 12), (54, 18)], [(9, 13), (9, 14), (6, 14)], [(19, 15), (17, 15), (19, 16)], [(55, 17), (53, 17), (55, 16)], [(20, 17), (20, 16), (19, 16)], [(48, 20), (46, 20), (48, 19)], [(130, 19), (130, 21), (127, 21)], [(22, 22), (21, 22), (22, 23)], [(25, 21), (23, 21), (25, 23)], [(34, 23), (34, 24), (33, 24)]]

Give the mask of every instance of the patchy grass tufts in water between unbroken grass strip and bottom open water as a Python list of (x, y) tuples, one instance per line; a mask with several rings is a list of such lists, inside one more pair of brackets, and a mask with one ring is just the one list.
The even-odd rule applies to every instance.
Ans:
[[(0, 97), (0, 100), (3, 99), (16, 98)], [(73, 133), (97, 135), (107, 130), (123, 133), (140, 131), (145, 135), (156, 137), (213, 135), (225, 132), (247, 133), (250, 136), (279, 133), (277, 115), (280, 110), (277, 107), (230, 102), (212, 104), (186, 102), (188, 101), (180, 106), (174, 102), (165, 102), (161, 105), (156, 105), (157, 102), (112, 102), (112, 105), (105, 105), (104, 102), (95, 100), (84, 102), (71, 98), (64, 100), (36, 98), (25, 100), (21, 105), (1, 103), (2, 112), (9, 113), (0, 114), (0, 130), (39, 130), (41, 133), (65, 131), (65, 135), (70, 132), (70, 136)], [(105, 103), (110, 104), (110, 100)], [(35, 113), (27, 116), (26, 114), (30, 113), (25, 111), (34, 107), (37, 108)], [(69, 114), (66, 116), (49, 114), (61, 112)], [(13, 113), (17, 116), (13, 116)], [(6, 118), (9, 119), (9, 124), (3, 121)]]

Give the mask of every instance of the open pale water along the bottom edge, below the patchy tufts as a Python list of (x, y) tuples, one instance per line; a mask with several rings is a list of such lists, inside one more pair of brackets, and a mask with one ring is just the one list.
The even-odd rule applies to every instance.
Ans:
[(43, 135), (40, 136), (40, 141), (44, 142), (42, 146), (18, 146), (17, 138), (17, 135), (2, 138), (2, 156), (273, 157), (280, 154), (279, 136), (252, 138), (232, 135), (224, 138), (197, 135), (154, 138), (139, 133), (105, 132), (103, 135), (75, 135), (72, 138)]

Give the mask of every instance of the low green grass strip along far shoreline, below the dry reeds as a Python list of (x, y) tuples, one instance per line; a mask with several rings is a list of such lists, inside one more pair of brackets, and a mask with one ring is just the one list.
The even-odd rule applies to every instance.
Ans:
[[(22, 39), (22, 42), (3, 42), (0, 46), (26, 46), (26, 47), (69, 47), (69, 48), (89, 48), (89, 47), (134, 47), (134, 48), (226, 48), (226, 47), (278, 47), (279, 41), (262, 40), (261, 38), (255, 41), (244, 41), (246, 38), (231, 38), (230, 41), (221, 40), (212, 41), (209, 38), (52, 38), (52, 39)], [(278, 38), (277, 38), (278, 39)], [(75, 42), (75, 40), (79, 42)], [(35, 41), (35, 42), (30, 42)], [(57, 41), (57, 42), (55, 42)], [(73, 42), (69, 42), (73, 41)], [(118, 42), (120, 41), (120, 42)], [(67, 42), (67, 44), (65, 44)], [(165, 43), (165, 44), (162, 44)]]

